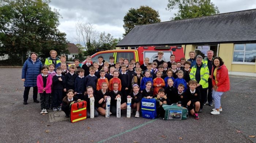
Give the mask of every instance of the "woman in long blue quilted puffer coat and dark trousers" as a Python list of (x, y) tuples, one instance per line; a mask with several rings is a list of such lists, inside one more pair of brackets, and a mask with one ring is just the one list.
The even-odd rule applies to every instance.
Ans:
[(25, 90), (23, 94), (24, 102), (27, 104), (29, 98), (30, 87), (33, 87), (33, 100), (35, 103), (39, 103), (37, 100), (37, 76), (41, 73), (42, 62), (37, 58), (35, 52), (31, 52), (30, 57), (25, 61), (22, 67), (21, 80), (24, 82)]

